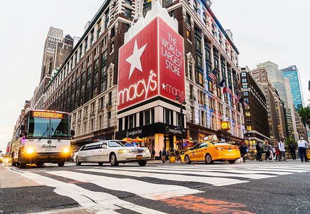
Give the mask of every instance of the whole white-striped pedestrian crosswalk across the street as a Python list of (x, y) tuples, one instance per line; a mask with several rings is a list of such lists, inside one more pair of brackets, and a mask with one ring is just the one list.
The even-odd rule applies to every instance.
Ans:
[[(73, 166), (75, 163), (66, 163)], [(52, 166), (53, 164), (47, 164)], [(18, 173), (40, 185), (53, 187), (54, 192), (75, 200), (94, 213), (121, 213), (122, 208), (138, 213), (165, 213), (163, 210), (141, 206), (120, 198), (117, 192), (126, 192), (141, 200), (164, 201), (170, 198), (206, 193), (202, 187), (243, 185), (257, 179), (271, 179), (284, 175), (310, 172), (304, 163), (247, 163), (247, 164), (84, 164), (83, 167), (46, 167), (42, 170), (16, 169)], [(98, 188), (88, 189), (91, 184)], [(101, 190), (101, 191), (99, 191)], [(102, 213), (105, 213), (102, 212)]]

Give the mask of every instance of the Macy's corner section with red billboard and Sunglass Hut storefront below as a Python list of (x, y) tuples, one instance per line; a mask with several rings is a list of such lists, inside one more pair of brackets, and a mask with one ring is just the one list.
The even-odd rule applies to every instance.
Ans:
[(186, 115), (175, 101), (185, 101), (183, 37), (176, 19), (158, 6), (128, 30), (119, 50), (115, 133), (115, 139), (142, 138), (138, 146), (154, 148), (157, 156), (164, 147), (181, 149), (187, 138)]

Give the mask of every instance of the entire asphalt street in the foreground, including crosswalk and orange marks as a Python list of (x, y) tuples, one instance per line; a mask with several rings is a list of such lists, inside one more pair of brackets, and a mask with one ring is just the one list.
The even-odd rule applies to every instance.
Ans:
[(0, 165), (0, 213), (310, 213), (310, 163)]

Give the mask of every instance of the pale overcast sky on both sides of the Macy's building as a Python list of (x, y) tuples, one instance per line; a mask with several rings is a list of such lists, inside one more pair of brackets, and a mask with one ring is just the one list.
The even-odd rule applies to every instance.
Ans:
[[(0, 8), (0, 150), (12, 139), (25, 100), (30, 100), (41, 75), (44, 42), (50, 26), (64, 35), (81, 37), (103, 1), (5, 1)], [(211, 10), (230, 29), (240, 52), (239, 65), (250, 69), (265, 61), (285, 68), (296, 65), (303, 97), (310, 92), (310, 1), (212, 0)], [(298, 4), (297, 4), (298, 3)]]

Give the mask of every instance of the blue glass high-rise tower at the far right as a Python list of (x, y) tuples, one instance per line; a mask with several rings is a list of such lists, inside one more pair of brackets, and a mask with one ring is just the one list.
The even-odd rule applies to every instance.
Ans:
[(304, 100), (297, 66), (292, 65), (281, 69), (281, 71), (283, 71), (284, 77), (289, 79), (293, 104), (298, 111), (302, 106), (304, 106)]

